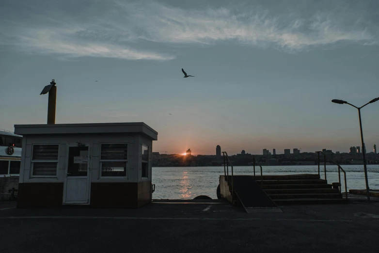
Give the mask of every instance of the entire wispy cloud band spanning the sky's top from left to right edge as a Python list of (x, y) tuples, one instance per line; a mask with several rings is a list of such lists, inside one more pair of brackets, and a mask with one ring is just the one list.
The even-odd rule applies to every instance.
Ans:
[[(54, 0), (36, 3), (33, 11), (29, 11), (30, 3), (24, 9), (20, 4), (13, 6), (8, 13), (18, 12), (31, 21), (9, 14), (8, 26), (0, 28), (0, 41), (30, 53), (59, 54), (61, 59), (128, 60), (174, 59), (168, 45), (226, 43), (300, 51), (338, 42), (365, 46), (379, 42), (378, 26), (365, 16), (354, 19), (333, 10), (301, 16), (296, 11), (275, 13), (257, 6), (184, 9), (154, 1), (119, 0), (70, 2), (64, 8), (60, 4)], [(169, 53), (162, 53), (165, 50)]]

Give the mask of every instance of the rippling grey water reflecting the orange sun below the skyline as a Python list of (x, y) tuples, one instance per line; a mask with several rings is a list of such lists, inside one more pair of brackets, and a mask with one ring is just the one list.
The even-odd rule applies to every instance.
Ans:
[[(264, 175), (270, 174), (304, 174), (317, 173), (317, 165), (311, 166), (266, 166)], [(343, 165), (346, 171), (347, 190), (365, 189), (363, 165)], [(320, 166), (321, 178), (324, 167)], [(370, 189), (379, 189), (379, 165), (367, 165)], [(253, 167), (234, 167), (235, 174), (253, 174)], [(216, 189), (219, 176), (224, 174), (224, 167), (156, 167), (153, 168), (153, 184), (156, 185), (154, 199), (193, 199), (198, 195), (207, 195), (217, 199)], [(255, 167), (255, 174), (260, 168)], [(328, 183), (338, 182), (337, 166), (327, 165)], [(341, 184), (345, 187), (343, 173)], [(344, 191), (344, 190), (343, 190)]]

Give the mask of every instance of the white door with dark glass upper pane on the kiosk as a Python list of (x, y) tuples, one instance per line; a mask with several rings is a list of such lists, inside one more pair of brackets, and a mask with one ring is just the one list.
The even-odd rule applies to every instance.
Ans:
[(90, 164), (91, 145), (68, 144), (63, 204), (90, 203)]

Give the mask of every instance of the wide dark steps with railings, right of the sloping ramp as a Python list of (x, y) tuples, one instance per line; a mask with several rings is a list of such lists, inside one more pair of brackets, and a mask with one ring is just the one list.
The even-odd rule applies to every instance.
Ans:
[(347, 203), (339, 190), (318, 174), (264, 175), (254, 179), (278, 206)]

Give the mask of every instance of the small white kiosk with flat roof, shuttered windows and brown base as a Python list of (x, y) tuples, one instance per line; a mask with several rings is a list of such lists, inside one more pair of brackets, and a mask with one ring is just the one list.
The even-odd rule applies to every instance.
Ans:
[(15, 125), (22, 135), (17, 207), (138, 208), (152, 200), (144, 123)]

